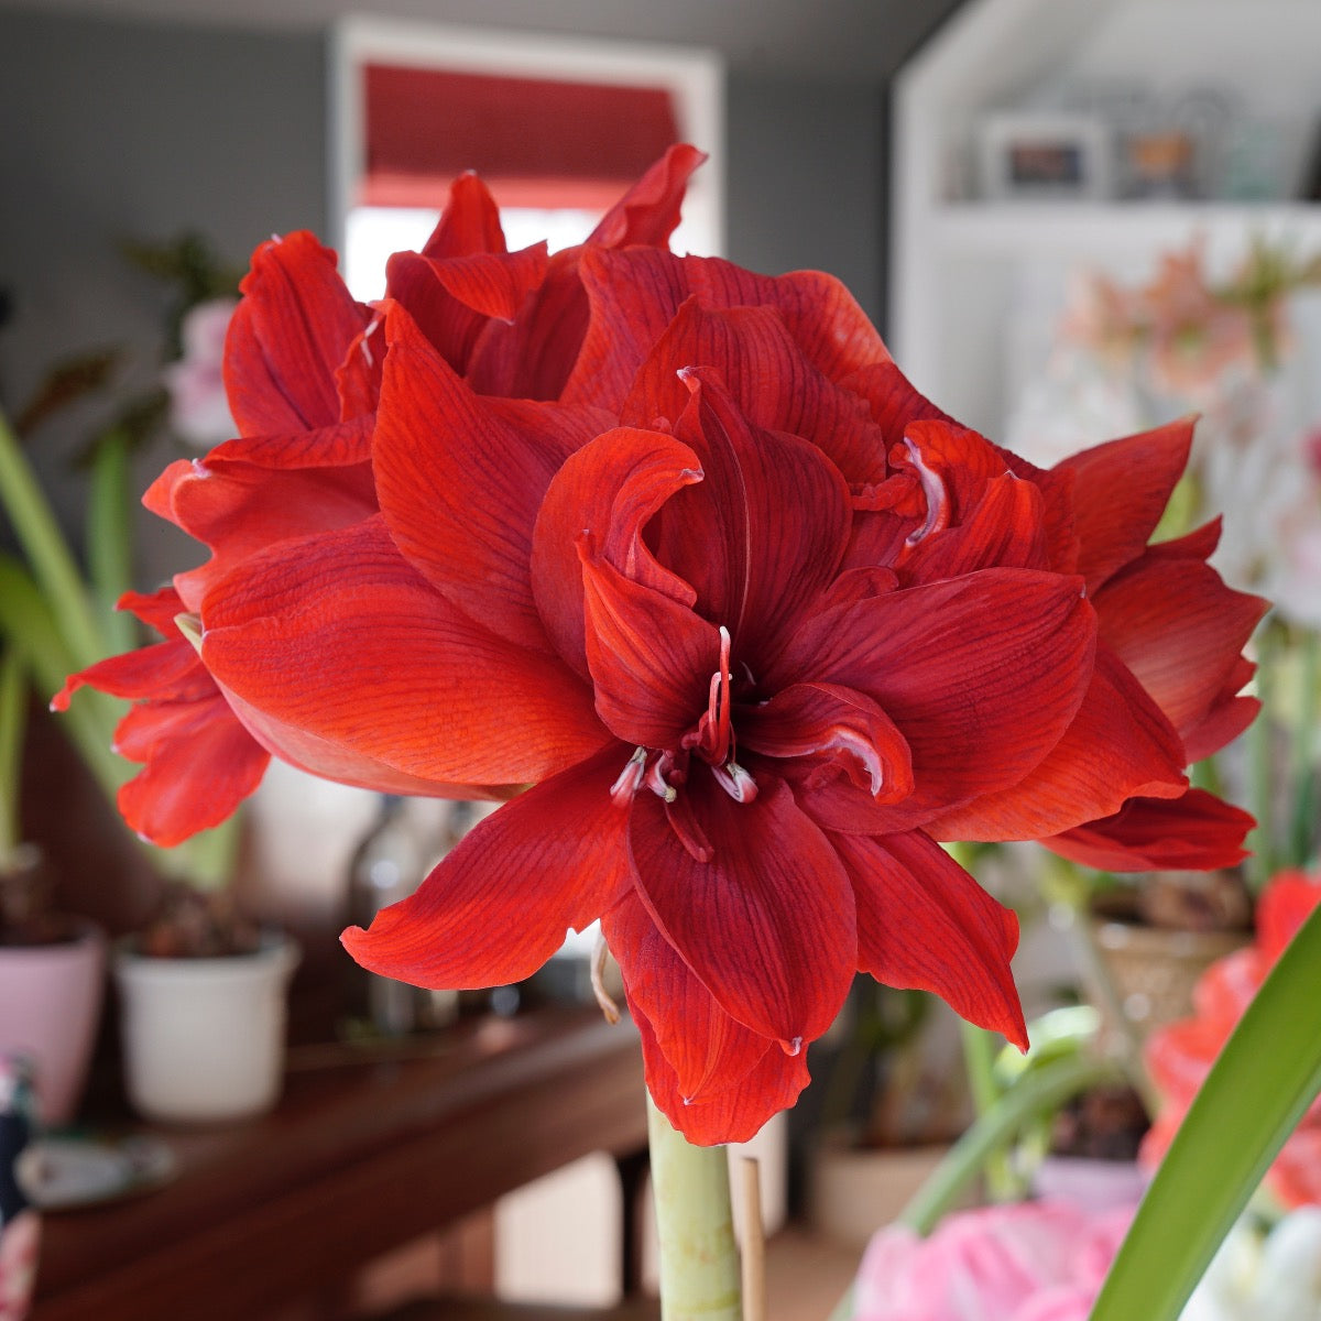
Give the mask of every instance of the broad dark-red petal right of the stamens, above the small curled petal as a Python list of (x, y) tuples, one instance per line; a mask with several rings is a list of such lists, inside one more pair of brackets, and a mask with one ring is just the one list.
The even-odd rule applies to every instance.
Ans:
[(908, 740), (917, 787), (877, 811), (905, 830), (1018, 783), (1063, 737), (1091, 682), (1095, 617), (1081, 588), (985, 569), (828, 610), (766, 683), (810, 676), (881, 707)]

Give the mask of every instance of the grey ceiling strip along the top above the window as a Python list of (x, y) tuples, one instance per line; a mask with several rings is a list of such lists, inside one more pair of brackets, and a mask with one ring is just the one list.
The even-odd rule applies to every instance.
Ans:
[[(884, 81), (960, 0), (38, 0), (46, 12), (242, 28), (346, 13), (708, 46), (734, 71)], [(33, 0), (0, 0), (0, 8)]]

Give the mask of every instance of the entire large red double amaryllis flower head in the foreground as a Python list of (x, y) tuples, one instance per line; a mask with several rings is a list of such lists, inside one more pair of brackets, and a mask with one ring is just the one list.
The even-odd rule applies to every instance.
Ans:
[(1262, 602), (1207, 568), (1214, 527), (1147, 544), (1190, 424), (1032, 468), (918, 395), (831, 277), (671, 255), (697, 160), (550, 259), (507, 254), (466, 178), (376, 308), (309, 236), (264, 244), (226, 354), (242, 437), (148, 493), (211, 557), (147, 604), (170, 641), (59, 700), (140, 699), (123, 806), (160, 843), (268, 752), (531, 785), (345, 943), (483, 985), (601, 918), (653, 1095), (711, 1143), (793, 1104), (857, 970), (1025, 1042), (1017, 923), (938, 840), (1238, 860), (1248, 818), (1184, 768), (1254, 713)]

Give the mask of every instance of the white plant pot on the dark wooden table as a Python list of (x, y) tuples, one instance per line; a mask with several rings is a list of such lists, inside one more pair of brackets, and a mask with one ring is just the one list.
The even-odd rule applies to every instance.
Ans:
[(285, 1009), (299, 946), (161, 959), (115, 950), (124, 1086), (133, 1108), (164, 1123), (223, 1123), (269, 1110), (284, 1077)]

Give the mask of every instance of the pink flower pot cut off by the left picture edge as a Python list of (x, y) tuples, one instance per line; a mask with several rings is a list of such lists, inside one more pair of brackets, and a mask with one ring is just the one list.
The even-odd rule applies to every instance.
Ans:
[(104, 1001), (106, 937), (73, 922), (67, 941), (0, 946), (0, 1052), (32, 1061), (44, 1124), (73, 1119)]

